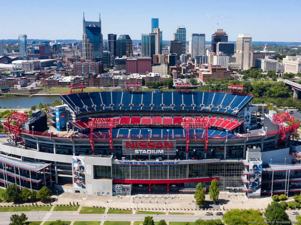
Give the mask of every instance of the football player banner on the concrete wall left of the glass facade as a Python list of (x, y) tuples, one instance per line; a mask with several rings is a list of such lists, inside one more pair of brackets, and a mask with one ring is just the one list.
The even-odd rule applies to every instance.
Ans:
[(86, 188), (85, 160), (83, 157), (73, 156), (73, 187)]

